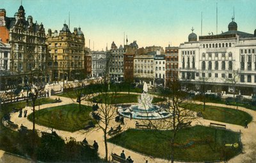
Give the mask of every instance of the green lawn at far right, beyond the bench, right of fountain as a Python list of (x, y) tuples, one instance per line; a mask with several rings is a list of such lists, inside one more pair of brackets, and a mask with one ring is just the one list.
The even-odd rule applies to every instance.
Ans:
[(248, 121), (248, 123), (252, 121), (252, 116), (250, 116), (250, 114), (236, 109), (205, 105), (204, 111), (204, 105), (189, 104), (189, 106), (189, 109), (193, 111), (201, 111), (203, 114), (203, 118), (206, 120), (221, 121), (241, 126), (244, 126), (244, 122), (246, 120)]

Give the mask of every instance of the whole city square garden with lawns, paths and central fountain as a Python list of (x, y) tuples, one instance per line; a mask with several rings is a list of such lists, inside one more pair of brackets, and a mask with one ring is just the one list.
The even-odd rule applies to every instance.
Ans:
[[(255, 134), (253, 109), (240, 106), (237, 109), (234, 105), (215, 104), (211, 100), (203, 107), (200, 100), (191, 100), (184, 96), (186, 93), (178, 91), (168, 96), (149, 91), (146, 83), (141, 87), (131, 86), (129, 91), (124, 84), (104, 86), (101, 83), (38, 98), (40, 102), (35, 105), (36, 139), (40, 141), (37, 159), (67, 161), (67, 156), (56, 155), (65, 155), (70, 146), (76, 146), (76, 150), (69, 153), (72, 157), (68, 161), (73, 162), (88, 161), (88, 157), (90, 162), (122, 162), (119, 157), (122, 150), (126, 158), (130, 156), (134, 162), (237, 162), (253, 154), (250, 148), (255, 142), (246, 138)], [(171, 98), (178, 96), (177, 100)], [(4, 107), (1, 132), (14, 139), (17, 131), (23, 133), (20, 125), (28, 131), (16, 142), (10, 142), (10, 137), (1, 134), (0, 144), (21, 144), (19, 141), (24, 140), (28, 146), (22, 147), (23, 153), (18, 154), (29, 157), (32, 155), (28, 152), (31, 149), (28, 139), (32, 136), (29, 130), (33, 128), (33, 105), (13, 102)], [(28, 111), (28, 116), (20, 117), (19, 109)], [(171, 123), (173, 120), (175, 126)], [(244, 128), (245, 121), (248, 128)], [(87, 143), (83, 143), (84, 138)], [(44, 144), (46, 141), (60, 150), (59, 153), (51, 155), (47, 151), (49, 146)], [(99, 144), (96, 151), (94, 141)], [(14, 147), (4, 150), (16, 152)], [(82, 151), (87, 154), (79, 157), (77, 153)]]

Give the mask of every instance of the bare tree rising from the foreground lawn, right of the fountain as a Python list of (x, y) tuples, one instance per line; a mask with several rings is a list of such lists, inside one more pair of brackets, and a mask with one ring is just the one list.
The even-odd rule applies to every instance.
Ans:
[(148, 118), (150, 124), (156, 130), (172, 130), (170, 139), (170, 159), (174, 162), (175, 156), (175, 139), (177, 133), (182, 129), (190, 126), (191, 121), (196, 119), (195, 113), (191, 111), (191, 101), (188, 100), (188, 94), (182, 91), (179, 81), (169, 82), (168, 86), (163, 89), (162, 94), (166, 100), (163, 102), (164, 111), (172, 116), (159, 121), (152, 121)]

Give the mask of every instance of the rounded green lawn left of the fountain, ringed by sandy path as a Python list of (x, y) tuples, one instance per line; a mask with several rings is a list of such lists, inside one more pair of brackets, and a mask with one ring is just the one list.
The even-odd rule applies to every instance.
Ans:
[[(92, 107), (81, 105), (79, 111), (78, 104), (68, 104), (36, 111), (35, 118), (39, 125), (75, 132), (83, 129), (89, 121), (94, 121), (89, 115), (91, 111)], [(29, 114), (28, 119), (32, 120), (32, 114)]]

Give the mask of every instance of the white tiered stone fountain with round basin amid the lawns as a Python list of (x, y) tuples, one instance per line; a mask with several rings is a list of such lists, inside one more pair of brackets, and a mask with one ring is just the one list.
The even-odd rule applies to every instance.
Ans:
[(162, 119), (170, 116), (170, 113), (160, 109), (158, 105), (152, 104), (153, 98), (148, 94), (147, 82), (143, 84), (143, 93), (138, 98), (138, 105), (118, 108), (118, 113), (128, 118), (134, 119)]

